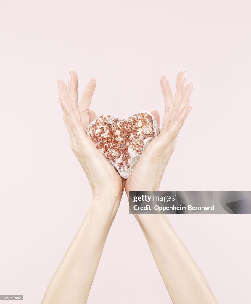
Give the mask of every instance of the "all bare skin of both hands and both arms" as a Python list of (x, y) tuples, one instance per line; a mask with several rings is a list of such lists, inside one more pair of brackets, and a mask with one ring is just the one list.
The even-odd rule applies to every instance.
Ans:
[[(68, 89), (63, 81), (58, 81), (58, 100), (70, 134), (70, 145), (89, 180), (93, 199), (83, 223), (46, 289), (42, 304), (86, 303), (124, 189), (127, 196), (129, 191), (159, 190), (179, 130), (192, 108), (189, 100), (193, 84), (185, 85), (185, 77), (184, 70), (177, 75), (175, 98), (166, 74), (161, 77), (165, 102), (162, 128), (146, 147), (127, 180), (120, 177), (86, 135), (88, 124), (97, 117), (89, 109), (95, 91), (95, 79), (90, 79), (79, 103), (76, 72), (70, 71)], [(151, 113), (160, 124), (158, 111)], [(163, 214), (134, 216), (146, 237), (172, 302), (217, 303), (206, 279), (167, 217)]]

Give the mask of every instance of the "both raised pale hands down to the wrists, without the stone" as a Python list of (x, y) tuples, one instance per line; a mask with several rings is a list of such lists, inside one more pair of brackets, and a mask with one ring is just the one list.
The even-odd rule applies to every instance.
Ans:
[[(87, 136), (88, 124), (97, 117), (89, 109), (96, 87), (95, 78), (91, 78), (78, 104), (78, 75), (71, 69), (68, 89), (65, 82), (59, 80), (58, 100), (62, 106), (63, 118), (70, 134), (71, 149), (76, 155), (92, 188), (93, 198), (112, 197), (113, 204), (119, 206), (124, 188), (129, 191), (158, 191), (163, 174), (176, 147), (177, 136), (188, 113), (193, 83), (185, 85), (186, 72), (177, 75), (175, 98), (166, 74), (160, 79), (165, 102), (163, 125), (159, 135), (146, 147), (129, 178), (124, 180), (112, 164), (96, 148)], [(151, 112), (160, 126), (159, 112)]]

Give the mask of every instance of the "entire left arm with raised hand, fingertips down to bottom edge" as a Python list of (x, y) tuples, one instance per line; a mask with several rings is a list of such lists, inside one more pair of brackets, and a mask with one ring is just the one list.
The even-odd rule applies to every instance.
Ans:
[(58, 101), (62, 106), (71, 148), (89, 180), (93, 200), (45, 292), (42, 304), (87, 302), (124, 190), (124, 180), (86, 134), (88, 123), (97, 117), (95, 112), (89, 110), (95, 85), (95, 79), (91, 78), (78, 104), (76, 72), (70, 71), (68, 89), (63, 81), (58, 81)]

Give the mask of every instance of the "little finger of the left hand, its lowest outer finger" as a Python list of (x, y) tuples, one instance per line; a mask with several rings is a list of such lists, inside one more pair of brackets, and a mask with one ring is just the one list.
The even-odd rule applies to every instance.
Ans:
[(66, 118), (69, 122), (70, 129), (72, 130), (72, 134), (74, 135), (76, 141), (77, 142), (80, 141), (81, 143), (84, 143), (86, 138), (86, 133), (83, 130), (83, 126), (80, 120), (76, 117), (72, 107), (69, 105), (67, 98), (64, 96), (58, 96), (58, 101), (65, 112)]

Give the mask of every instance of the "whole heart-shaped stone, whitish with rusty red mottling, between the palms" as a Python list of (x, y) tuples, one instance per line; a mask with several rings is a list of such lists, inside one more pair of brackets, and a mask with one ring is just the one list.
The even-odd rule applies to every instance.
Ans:
[(159, 125), (149, 112), (120, 120), (102, 115), (87, 126), (87, 135), (119, 172), (128, 178), (149, 142), (159, 134)]

